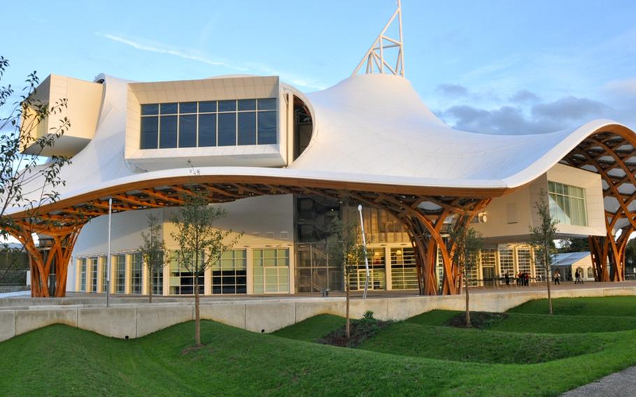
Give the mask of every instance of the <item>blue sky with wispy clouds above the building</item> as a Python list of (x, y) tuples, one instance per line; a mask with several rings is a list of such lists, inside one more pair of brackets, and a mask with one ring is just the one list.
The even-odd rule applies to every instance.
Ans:
[[(3, 83), (347, 78), (393, 0), (33, 1), (3, 6)], [(406, 77), (455, 127), (533, 133), (609, 117), (636, 128), (636, 1), (403, 0)]]

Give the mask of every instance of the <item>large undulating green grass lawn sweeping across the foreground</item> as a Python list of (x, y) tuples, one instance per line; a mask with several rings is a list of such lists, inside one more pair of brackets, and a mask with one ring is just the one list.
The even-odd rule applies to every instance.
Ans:
[[(614, 304), (607, 302), (606, 315)], [(343, 324), (333, 316), (308, 319), (275, 335), (203, 321), (205, 347), (191, 351), (185, 351), (193, 340), (191, 322), (136, 340), (48, 326), (0, 342), (0, 394), (557, 396), (636, 365), (636, 331), (533, 335), (440, 326), (449, 316), (435, 312), (393, 324), (363, 349), (308, 342)], [(552, 353), (561, 341), (565, 347)], [(516, 363), (497, 363), (503, 349), (496, 345), (515, 342), (526, 343), (506, 352)], [(523, 346), (542, 351), (532, 357), (544, 362), (518, 363), (528, 362), (520, 358)]]

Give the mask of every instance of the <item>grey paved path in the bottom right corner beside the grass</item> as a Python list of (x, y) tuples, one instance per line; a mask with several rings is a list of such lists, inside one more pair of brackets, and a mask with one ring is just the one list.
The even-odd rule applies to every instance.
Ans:
[(636, 395), (636, 367), (602, 377), (562, 394), (562, 397), (632, 397)]

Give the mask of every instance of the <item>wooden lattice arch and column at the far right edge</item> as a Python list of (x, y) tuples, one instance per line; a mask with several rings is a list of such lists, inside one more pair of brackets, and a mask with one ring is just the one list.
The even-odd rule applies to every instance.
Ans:
[(570, 166), (599, 173), (603, 181), (607, 234), (589, 237), (597, 281), (625, 280), (625, 249), (636, 231), (635, 147), (634, 133), (616, 126), (588, 136), (563, 159)]

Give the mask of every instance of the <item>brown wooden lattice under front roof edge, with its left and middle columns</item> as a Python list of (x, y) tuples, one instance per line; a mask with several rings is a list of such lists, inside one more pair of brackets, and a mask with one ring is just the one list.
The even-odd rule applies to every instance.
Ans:
[[(95, 192), (91, 196), (58, 202), (40, 208), (28, 218), (16, 216), (15, 229), (10, 233), (18, 238), (29, 252), (33, 270), (34, 296), (50, 296), (46, 280), (55, 263), (57, 287), (56, 296), (64, 296), (66, 269), (78, 233), (82, 226), (94, 217), (108, 214), (108, 197), (113, 198), (113, 212), (124, 212), (147, 208), (167, 208), (182, 205), (185, 196), (195, 192), (205, 194), (210, 203), (226, 203), (240, 198), (273, 195), (296, 194), (317, 195), (339, 200), (355, 201), (374, 208), (386, 210), (407, 226), (417, 261), (418, 283), (421, 294), (437, 294), (438, 280), (435, 274), (435, 259), (438, 248), (441, 252), (444, 280), (442, 291), (455, 294), (458, 291), (460, 269), (452, 263), (454, 244), (445, 237), (452, 228), (467, 224), (482, 210), (490, 198), (472, 198), (455, 196), (433, 196), (422, 194), (400, 194), (395, 192), (377, 192), (372, 189), (352, 189), (342, 186), (316, 187), (301, 184), (287, 185), (280, 180), (259, 180), (255, 182), (230, 181), (219, 182), (217, 177), (197, 176), (173, 178), (160, 182), (140, 182), (136, 186), (111, 188), (104, 192)], [(240, 181), (240, 182), (239, 182)], [(154, 186), (153, 185), (157, 185)], [(369, 188), (369, 187), (367, 187)], [(392, 187), (392, 189), (397, 189)], [(491, 192), (499, 195), (500, 192)], [(426, 203), (426, 205), (423, 205)], [(51, 236), (53, 245), (48, 255), (36, 247), (32, 233)], [(39, 280), (39, 281), (38, 281)]]

